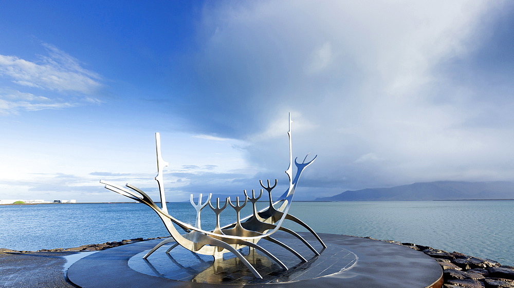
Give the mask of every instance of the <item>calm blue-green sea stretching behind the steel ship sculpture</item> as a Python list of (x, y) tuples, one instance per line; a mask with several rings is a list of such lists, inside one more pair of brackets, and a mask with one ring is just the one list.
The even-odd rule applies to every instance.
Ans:
[[(194, 223), (189, 203), (169, 203), (168, 209)], [(412, 242), (514, 266), (514, 201), (294, 202), (290, 213), (319, 233)], [(214, 227), (213, 216), (208, 207), (202, 211), (204, 229)], [(233, 222), (234, 210), (226, 208), (221, 217)], [(303, 231), (292, 222), (285, 226)], [(168, 235), (143, 204), (0, 206), (3, 248), (36, 251)]]

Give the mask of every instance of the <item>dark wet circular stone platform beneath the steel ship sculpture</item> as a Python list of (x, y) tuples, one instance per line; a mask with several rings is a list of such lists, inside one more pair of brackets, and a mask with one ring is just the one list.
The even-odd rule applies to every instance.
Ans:
[(288, 244), (305, 259), (286, 249), (261, 240), (259, 245), (277, 256), (289, 268), (282, 270), (258, 251), (242, 249), (263, 279), (257, 279), (232, 254), (223, 260), (197, 255), (177, 246), (170, 254), (165, 245), (148, 259), (142, 256), (161, 240), (143, 241), (106, 249), (87, 256), (68, 269), (69, 280), (83, 288), (96, 287), (208, 287), (233, 284), (249, 287), (272, 284), (310, 287), (409, 287), (439, 288), (443, 283), (440, 265), (409, 247), (366, 238), (320, 234), (327, 248), (308, 233), (300, 233), (318, 252), (316, 256), (297, 238), (283, 232), (274, 238)]

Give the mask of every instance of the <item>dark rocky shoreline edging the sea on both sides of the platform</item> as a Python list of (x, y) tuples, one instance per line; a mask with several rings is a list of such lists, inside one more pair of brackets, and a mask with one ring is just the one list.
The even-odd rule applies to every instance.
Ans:
[[(121, 241), (105, 242), (101, 244), (88, 244), (72, 248), (41, 249), (35, 252), (90, 252), (100, 251), (120, 245), (162, 239), (157, 238), (134, 238)], [(434, 258), (443, 268), (444, 288), (514, 288), (514, 267), (502, 265), (496, 261), (464, 255), (458, 252), (446, 252), (429, 246), (416, 245), (414, 243), (401, 243), (393, 240), (378, 240), (371, 237), (364, 237), (372, 240), (383, 241), (403, 245), (423, 252)], [(34, 251), (14, 251), (0, 248), (0, 253), (34, 253)]]

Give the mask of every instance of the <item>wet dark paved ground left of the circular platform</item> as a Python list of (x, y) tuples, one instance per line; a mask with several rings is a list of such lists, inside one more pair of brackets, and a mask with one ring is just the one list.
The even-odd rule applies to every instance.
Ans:
[(76, 253), (0, 253), (0, 287), (77, 287), (65, 278), (65, 256)]

